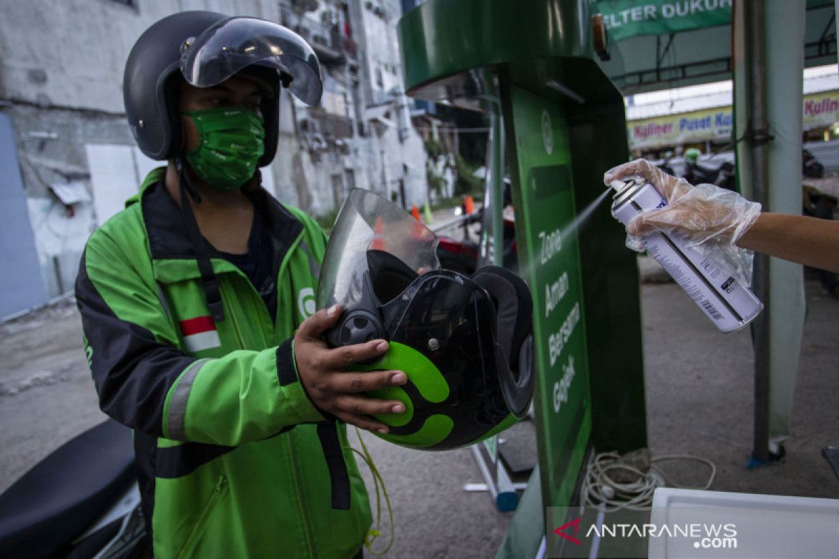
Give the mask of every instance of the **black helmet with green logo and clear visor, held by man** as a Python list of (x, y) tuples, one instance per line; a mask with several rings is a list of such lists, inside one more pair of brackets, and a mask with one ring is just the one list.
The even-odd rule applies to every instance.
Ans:
[(403, 370), (404, 386), (371, 396), (405, 404), (383, 414), (408, 448), (477, 443), (527, 413), (533, 396), (533, 302), (521, 278), (499, 267), (470, 277), (440, 269), (433, 232), (387, 199), (353, 189), (332, 230), (320, 272), (319, 308), (340, 304), (333, 346), (388, 339), (359, 370)]

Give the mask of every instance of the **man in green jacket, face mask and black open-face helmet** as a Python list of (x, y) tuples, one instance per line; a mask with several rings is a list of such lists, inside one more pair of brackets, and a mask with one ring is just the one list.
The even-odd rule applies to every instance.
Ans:
[(360, 394), (404, 373), (345, 372), (385, 341), (326, 348), (326, 236), (259, 185), (281, 86), (318, 101), (318, 61), (256, 18), (169, 16), (126, 64), (129, 126), (168, 164), (91, 235), (76, 298), (100, 406), (134, 430), (155, 556), (355, 556), (370, 511), (342, 422), (386, 432), (370, 416), (404, 411)]

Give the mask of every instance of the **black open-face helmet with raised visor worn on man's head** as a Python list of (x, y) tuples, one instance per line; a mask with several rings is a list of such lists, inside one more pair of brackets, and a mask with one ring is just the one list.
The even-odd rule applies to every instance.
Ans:
[(245, 75), (266, 88), (261, 111), (265, 152), (274, 159), (279, 134), (279, 89), (309, 105), (320, 100), (320, 63), (300, 35), (259, 18), (230, 18), (215, 12), (175, 13), (140, 35), (125, 65), (122, 94), (128, 125), (140, 150), (163, 160), (179, 155), (182, 131), (177, 79), (211, 87)]

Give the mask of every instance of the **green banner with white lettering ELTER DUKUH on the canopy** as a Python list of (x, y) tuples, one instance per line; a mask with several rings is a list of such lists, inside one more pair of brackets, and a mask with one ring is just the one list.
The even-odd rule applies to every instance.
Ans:
[(611, 42), (638, 35), (663, 35), (717, 25), (732, 19), (732, 0), (596, 0)]

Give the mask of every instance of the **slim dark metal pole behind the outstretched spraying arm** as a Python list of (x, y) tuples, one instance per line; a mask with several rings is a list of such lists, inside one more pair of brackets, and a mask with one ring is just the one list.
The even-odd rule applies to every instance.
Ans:
[[(766, 113), (766, 44), (763, 0), (746, 0), (746, 33), (749, 51), (751, 126), (748, 143), (752, 152), (753, 199), (769, 207)], [(754, 438), (752, 458), (769, 460), (769, 256), (754, 255), (753, 287), (763, 302), (763, 313), (753, 322), (754, 344)]]

